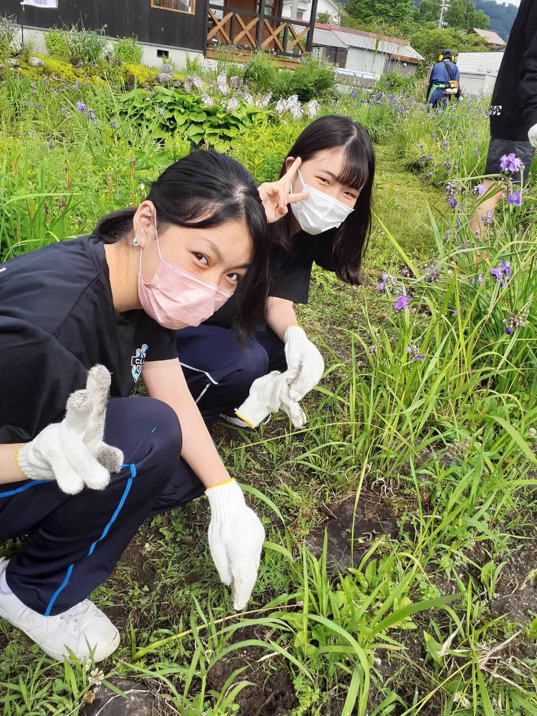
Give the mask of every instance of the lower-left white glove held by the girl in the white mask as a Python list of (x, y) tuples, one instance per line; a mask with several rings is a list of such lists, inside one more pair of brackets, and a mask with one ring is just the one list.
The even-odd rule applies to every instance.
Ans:
[(254, 380), (251, 384), (250, 395), (241, 407), (236, 409), (235, 415), (247, 422), (250, 427), (256, 427), (271, 412), (284, 410), (294, 427), (303, 427), (306, 424), (304, 410), (289, 395), (289, 381), (295, 375), (289, 370), (284, 373), (273, 370), (268, 375)]

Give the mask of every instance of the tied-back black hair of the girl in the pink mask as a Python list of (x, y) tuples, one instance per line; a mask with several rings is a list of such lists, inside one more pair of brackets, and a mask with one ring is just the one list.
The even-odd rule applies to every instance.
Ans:
[[(269, 241), (265, 210), (250, 173), (227, 155), (193, 152), (169, 166), (153, 182), (147, 199), (155, 205), (158, 231), (170, 224), (210, 228), (227, 221), (246, 223), (253, 256), (236, 288), (235, 329), (240, 338), (251, 335), (265, 319)], [(108, 214), (97, 224), (95, 236), (105, 243), (132, 237), (135, 213), (136, 209), (131, 208)]]

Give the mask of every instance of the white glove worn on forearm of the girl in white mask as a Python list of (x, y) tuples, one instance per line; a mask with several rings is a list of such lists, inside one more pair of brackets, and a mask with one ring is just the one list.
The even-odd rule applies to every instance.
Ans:
[(294, 373), (288, 379), (289, 397), (295, 402), (309, 393), (324, 373), (324, 360), (300, 326), (289, 326), (284, 334), (287, 368)]

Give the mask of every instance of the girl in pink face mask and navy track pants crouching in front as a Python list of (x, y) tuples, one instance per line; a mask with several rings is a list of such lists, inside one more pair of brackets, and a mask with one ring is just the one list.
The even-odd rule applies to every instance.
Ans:
[[(267, 216), (303, 198), (289, 196), (296, 165), (262, 201), (242, 165), (194, 153), (137, 208), (2, 266), (0, 542), (28, 538), (0, 561), (0, 618), (54, 659), (115, 650), (87, 596), (146, 517), (204, 492), (218, 574), (235, 609), (250, 597), (263, 526), (190, 396), (176, 333), (235, 291), (238, 334), (263, 319)], [(140, 376), (149, 397), (129, 397)]]

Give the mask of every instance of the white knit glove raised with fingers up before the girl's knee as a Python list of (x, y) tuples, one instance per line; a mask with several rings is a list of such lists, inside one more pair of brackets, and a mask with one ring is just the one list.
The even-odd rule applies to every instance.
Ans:
[(103, 365), (89, 371), (84, 390), (69, 395), (62, 422), (42, 430), (17, 454), (21, 473), (29, 480), (56, 480), (67, 495), (84, 485), (102, 490), (123, 464), (119, 448), (102, 442), (110, 389), (110, 372)]

